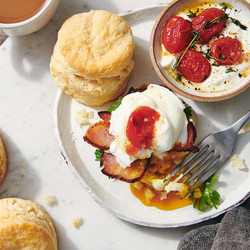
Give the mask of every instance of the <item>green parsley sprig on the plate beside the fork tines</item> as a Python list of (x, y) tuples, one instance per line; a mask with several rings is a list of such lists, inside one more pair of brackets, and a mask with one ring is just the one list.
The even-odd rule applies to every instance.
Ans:
[(194, 208), (197, 208), (200, 211), (205, 211), (208, 208), (215, 207), (217, 209), (220, 202), (220, 194), (213, 189), (210, 189), (210, 185), (217, 179), (216, 175), (212, 175), (208, 178), (201, 187), (201, 197), (195, 199), (193, 193), (190, 195), (189, 199), (194, 200)]

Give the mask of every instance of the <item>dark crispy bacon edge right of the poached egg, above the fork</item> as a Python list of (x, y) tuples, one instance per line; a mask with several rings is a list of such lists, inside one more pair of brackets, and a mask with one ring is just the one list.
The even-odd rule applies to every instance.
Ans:
[(191, 151), (191, 152), (197, 152), (199, 149), (194, 146), (194, 142), (196, 140), (196, 128), (192, 122), (188, 122), (187, 125), (187, 131), (188, 131), (188, 138), (186, 144), (183, 146), (181, 143), (177, 143), (174, 145), (173, 149), (171, 151)]

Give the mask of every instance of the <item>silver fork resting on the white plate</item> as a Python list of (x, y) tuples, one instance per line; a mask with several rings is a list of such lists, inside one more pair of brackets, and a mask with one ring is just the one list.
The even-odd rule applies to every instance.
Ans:
[[(189, 193), (217, 172), (232, 155), (239, 130), (250, 118), (250, 110), (230, 127), (208, 135), (199, 145), (199, 151), (190, 153), (164, 180), (169, 181), (179, 171), (178, 180), (190, 186)], [(186, 169), (185, 169), (186, 168)]]

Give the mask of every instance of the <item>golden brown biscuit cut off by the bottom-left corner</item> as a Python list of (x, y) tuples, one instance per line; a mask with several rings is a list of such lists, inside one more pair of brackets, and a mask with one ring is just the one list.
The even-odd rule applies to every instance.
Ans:
[(54, 223), (32, 200), (0, 200), (0, 249), (57, 249)]

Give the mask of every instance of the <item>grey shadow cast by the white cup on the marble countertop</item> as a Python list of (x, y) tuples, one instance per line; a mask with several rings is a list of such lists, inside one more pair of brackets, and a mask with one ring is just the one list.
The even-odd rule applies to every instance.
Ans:
[[(102, 0), (102, 7), (111, 7), (110, 1)], [(74, 14), (97, 8), (100, 9), (99, 1), (93, 1), (89, 5), (80, 0), (61, 1), (54, 17), (41, 30), (30, 35), (9, 38), (11, 61), (16, 72), (28, 81), (37, 83), (36, 80), (49, 72), (50, 57), (63, 22)], [(113, 12), (117, 10), (113, 5), (109, 9)]]

